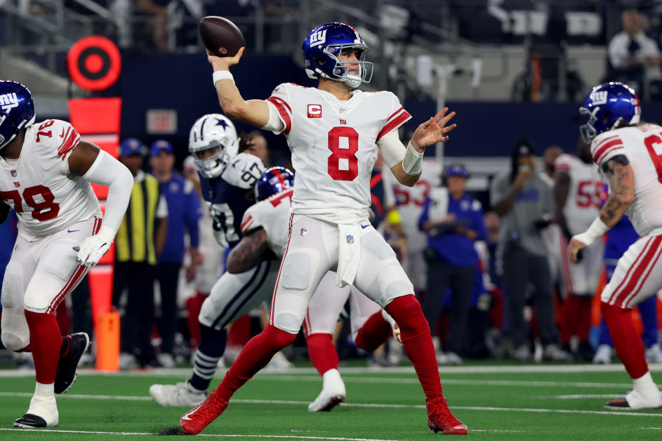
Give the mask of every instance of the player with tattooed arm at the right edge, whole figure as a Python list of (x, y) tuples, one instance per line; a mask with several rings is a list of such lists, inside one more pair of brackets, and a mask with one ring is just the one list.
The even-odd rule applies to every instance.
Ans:
[(610, 194), (599, 217), (570, 240), (568, 257), (576, 260), (580, 249), (601, 238), (623, 214), (641, 236), (619, 259), (601, 294), (614, 349), (634, 383), (625, 398), (605, 407), (654, 409), (662, 406), (662, 396), (648, 371), (630, 311), (662, 288), (662, 127), (639, 124), (639, 99), (622, 83), (593, 88), (580, 112), (588, 116), (581, 132), (587, 142), (592, 139), (593, 161), (609, 179)]

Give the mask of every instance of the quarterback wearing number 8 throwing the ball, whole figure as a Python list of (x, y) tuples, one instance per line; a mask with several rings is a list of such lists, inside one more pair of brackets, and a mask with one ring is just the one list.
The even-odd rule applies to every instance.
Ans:
[(303, 42), (306, 71), (319, 79), (317, 88), (281, 84), (266, 100), (245, 101), (228, 68), (234, 57), (208, 54), (223, 112), (233, 119), (283, 133), (297, 170), (290, 238), (277, 279), (270, 324), (252, 338), (223, 382), (198, 407), (185, 413), (185, 433), (202, 431), (228, 406), (230, 397), (262, 369), (281, 348), (290, 345), (303, 322), (308, 301), (321, 278), (337, 269), (340, 286), (354, 284), (379, 302), (401, 329), (405, 352), (425, 391), (428, 426), (443, 433), (468, 433), (448, 409), (441, 393), (430, 330), (414, 289), (395, 253), (368, 221), (370, 173), (381, 150), (401, 183), (414, 185), (421, 174), (425, 147), (446, 141), (454, 112), (444, 109), (419, 125), (408, 147), (397, 129), (410, 119), (390, 92), (352, 92), (369, 81), (368, 47), (344, 23), (314, 28)]

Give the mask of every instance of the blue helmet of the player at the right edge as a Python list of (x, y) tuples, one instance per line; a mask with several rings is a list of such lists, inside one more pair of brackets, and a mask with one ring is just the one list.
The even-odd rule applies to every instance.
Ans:
[(608, 130), (639, 123), (641, 105), (634, 90), (623, 83), (603, 83), (592, 88), (579, 113), (588, 121), (579, 127), (586, 143)]

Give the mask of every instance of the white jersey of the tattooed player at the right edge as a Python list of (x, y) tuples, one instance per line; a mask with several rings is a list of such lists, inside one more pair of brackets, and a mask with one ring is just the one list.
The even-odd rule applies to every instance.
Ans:
[(628, 217), (639, 236), (662, 234), (662, 127), (623, 127), (596, 136), (591, 144), (599, 167), (625, 155), (634, 171), (634, 201)]

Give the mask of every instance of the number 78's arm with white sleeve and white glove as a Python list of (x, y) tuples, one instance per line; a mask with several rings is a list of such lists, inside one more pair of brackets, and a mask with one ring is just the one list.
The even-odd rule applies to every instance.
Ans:
[(108, 187), (106, 214), (97, 234), (94, 234), (74, 247), (78, 252), (79, 263), (88, 267), (97, 265), (108, 248), (122, 223), (122, 218), (129, 205), (133, 176), (121, 162), (100, 150), (94, 144), (81, 141), (72, 150), (68, 158), (69, 171), (81, 176), (88, 182)]

